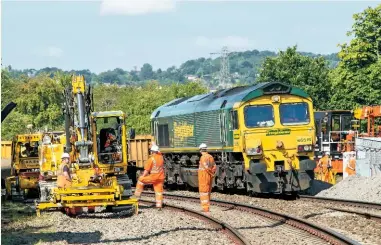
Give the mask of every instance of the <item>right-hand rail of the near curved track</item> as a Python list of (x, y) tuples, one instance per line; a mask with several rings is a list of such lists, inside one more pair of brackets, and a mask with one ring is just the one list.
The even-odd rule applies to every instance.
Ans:
[[(145, 196), (154, 196), (153, 192), (143, 192)], [(197, 197), (189, 197), (183, 195), (175, 195), (175, 194), (164, 194), (165, 199), (170, 200), (179, 200), (179, 201), (187, 201), (187, 202), (195, 202), (199, 203), (199, 198)], [(293, 216), (289, 216), (286, 214), (277, 213), (274, 211), (270, 211), (264, 208), (259, 208), (255, 206), (250, 206), (246, 204), (233, 203), (228, 201), (216, 200), (212, 199), (211, 204), (225, 207), (228, 209), (235, 209), (239, 211), (253, 213), (255, 215), (259, 215), (268, 219), (272, 219), (287, 225), (290, 225), (296, 229), (303, 230), (305, 232), (310, 233), (312, 236), (318, 237), (330, 244), (360, 244), (344, 235), (337, 233), (331, 229), (323, 228), (306, 220), (302, 220)]]

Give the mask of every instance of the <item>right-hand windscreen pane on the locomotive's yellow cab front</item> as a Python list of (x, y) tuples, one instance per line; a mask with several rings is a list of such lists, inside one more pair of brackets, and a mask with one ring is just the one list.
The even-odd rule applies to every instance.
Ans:
[(281, 104), (279, 112), (283, 125), (303, 125), (310, 122), (308, 104), (305, 102)]

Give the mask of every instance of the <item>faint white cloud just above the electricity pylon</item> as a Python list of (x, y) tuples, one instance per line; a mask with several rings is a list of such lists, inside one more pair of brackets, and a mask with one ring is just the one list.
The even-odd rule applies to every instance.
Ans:
[(253, 46), (253, 43), (246, 37), (226, 36), (226, 37), (204, 37), (199, 36), (195, 40), (195, 44), (201, 47), (222, 47), (227, 46), (230, 49), (247, 49)]

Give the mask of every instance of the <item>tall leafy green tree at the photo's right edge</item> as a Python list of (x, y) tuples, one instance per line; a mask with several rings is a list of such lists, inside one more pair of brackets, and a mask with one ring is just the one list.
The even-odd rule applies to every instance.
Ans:
[(353, 15), (349, 44), (341, 45), (338, 67), (330, 74), (337, 109), (381, 104), (381, 5)]

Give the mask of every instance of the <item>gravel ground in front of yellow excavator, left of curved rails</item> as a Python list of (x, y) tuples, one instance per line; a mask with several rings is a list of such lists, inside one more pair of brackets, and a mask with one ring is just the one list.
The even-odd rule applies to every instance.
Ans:
[(232, 244), (202, 220), (141, 206), (139, 215), (42, 213), (2, 225), (2, 244)]

